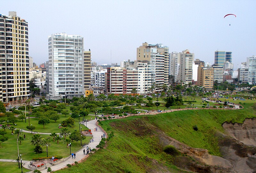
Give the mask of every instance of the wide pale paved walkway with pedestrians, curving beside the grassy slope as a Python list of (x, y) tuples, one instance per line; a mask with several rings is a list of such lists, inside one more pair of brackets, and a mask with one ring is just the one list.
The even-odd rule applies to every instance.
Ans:
[[(84, 124), (84, 125), (86, 125), (86, 124)], [(92, 130), (92, 135), (93, 135), (92, 139), (94, 141), (89, 143), (86, 146), (91, 147), (92, 149), (96, 148), (96, 146), (100, 143), (101, 135), (103, 135), (103, 131), (98, 127), (98, 131), (94, 132), (94, 128), (96, 127), (96, 120), (91, 120), (91, 121), (87, 122), (87, 127)], [(105, 134), (105, 135), (107, 135), (107, 134)], [(76, 145), (76, 144), (74, 143), (74, 145)], [(72, 164), (75, 161), (78, 162), (78, 161), (84, 160), (86, 157), (88, 157), (88, 155), (84, 155), (84, 152), (83, 152), (84, 149), (86, 151), (86, 146), (84, 146), (81, 150), (76, 152), (76, 159), (72, 159), (72, 157), (69, 156), (67, 158), (67, 160), (65, 160), (64, 162), (61, 162), (61, 163), (58, 163), (56, 165), (50, 166), (50, 168), (52, 168), (52, 171), (62, 169), (64, 167), (66, 167), (67, 164)], [(71, 148), (71, 152), (72, 152), (72, 148)], [(47, 169), (41, 170), (41, 172), (42, 173), (47, 173)]]

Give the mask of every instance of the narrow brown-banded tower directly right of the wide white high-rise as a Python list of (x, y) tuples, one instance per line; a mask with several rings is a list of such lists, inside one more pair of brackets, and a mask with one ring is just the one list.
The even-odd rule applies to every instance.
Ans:
[(84, 91), (89, 90), (91, 84), (91, 50), (84, 51)]

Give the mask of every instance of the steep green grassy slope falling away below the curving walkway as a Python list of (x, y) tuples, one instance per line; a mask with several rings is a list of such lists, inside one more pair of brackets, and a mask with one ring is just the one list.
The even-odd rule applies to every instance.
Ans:
[[(188, 146), (205, 148), (210, 154), (220, 156), (214, 134), (225, 133), (221, 124), (225, 121), (243, 123), (245, 118), (252, 117), (256, 117), (255, 105), (246, 102), (244, 109), (237, 110), (185, 110), (103, 121), (103, 129), (108, 134), (114, 133), (106, 148), (92, 154), (85, 162), (57, 173), (146, 172), (148, 169), (165, 172), (161, 169), (163, 165), (171, 172), (182, 172), (172, 165), (173, 157), (164, 154), (159, 130)], [(198, 131), (193, 130), (194, 125)]]

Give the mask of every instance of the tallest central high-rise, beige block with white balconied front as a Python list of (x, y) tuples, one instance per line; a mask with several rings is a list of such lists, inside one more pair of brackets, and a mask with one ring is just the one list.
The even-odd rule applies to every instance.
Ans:
[[(152, 84), (156, 86), (168, 85), (169, 75), (169, 47), (163, 44), (148, 44), (142, 43), (142, 46), (137, 48), (137, 61), (148, 63), (151, 66)], [(160, 87), (156, 92), (160, 92)]]

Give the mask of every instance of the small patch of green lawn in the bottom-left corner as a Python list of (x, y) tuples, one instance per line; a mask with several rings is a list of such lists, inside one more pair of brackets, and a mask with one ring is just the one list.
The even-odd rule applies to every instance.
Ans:
[[(28, 172), (30, 170), (22, 168), (22, 172)], [(18, 162), (0, 162), (0, 172), (1, 173), (16, 173), (21, 172), (21, 168), (19, 169)]]

